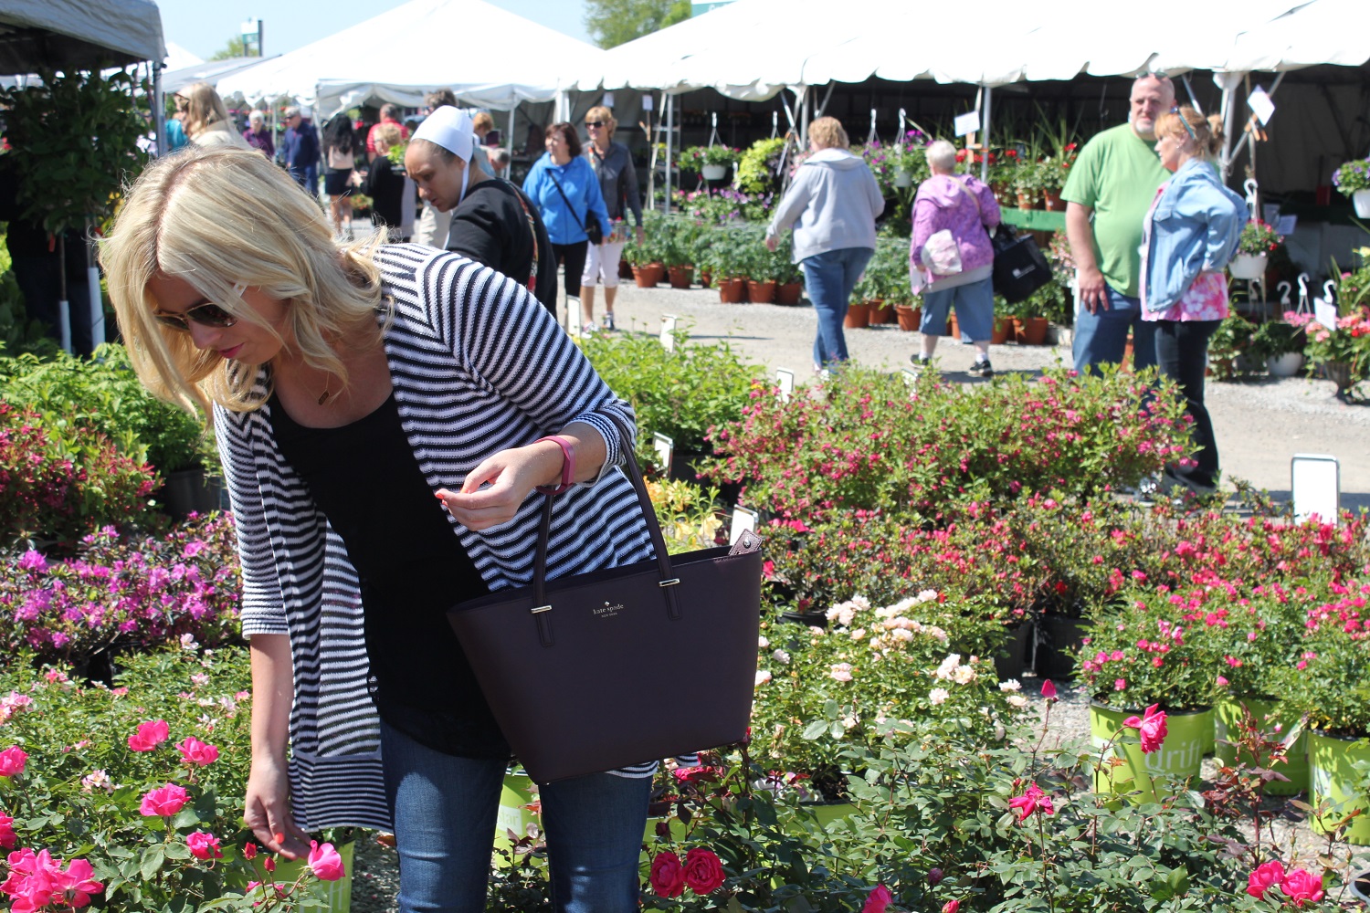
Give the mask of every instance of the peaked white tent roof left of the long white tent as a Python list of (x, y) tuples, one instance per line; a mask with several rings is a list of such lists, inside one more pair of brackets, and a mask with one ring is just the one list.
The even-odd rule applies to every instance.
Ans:
[[(478, 27), (471, 23), (480, 22)], [(470, 105), (549, 101), (559, 78), (604, 52), (484, 0), (410, 0), (219, 81), (219, 94), (295, 96), (319, 114), (369, 99), (408, 107), (449, 86)]]

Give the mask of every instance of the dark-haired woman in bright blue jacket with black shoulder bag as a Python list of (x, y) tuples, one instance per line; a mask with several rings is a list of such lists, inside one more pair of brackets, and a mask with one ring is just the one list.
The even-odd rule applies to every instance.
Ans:
[[(552, 240), (552, 256), (566, 268), (567, 300), (580, 297), (581, 272), (589, 248), (588, 219), (597, 219), (601, 231), (610, 220), (599, 178), (590, 163), (581, 157), (581, 138), (570, 123), (553, 123), (547, 129), (547, 155), (527, 172), (523, 193), (543, 214)], [(600, 237), (603, 244), (604, 235)], [(582, 331), (589, 333), (590, 329), (590, 324), (582, 324)]]

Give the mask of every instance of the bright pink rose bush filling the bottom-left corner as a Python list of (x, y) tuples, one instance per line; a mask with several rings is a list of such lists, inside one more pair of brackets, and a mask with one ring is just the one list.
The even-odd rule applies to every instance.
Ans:
[(112, 689), (25, 661), (0, 668), (10, 909), (293, 910), (310, 884), (337, 877), (330, 845), (296, 882), (275, 883), (264, 856), (249, 858), (247, 652), (185, 635), (125, 665)]

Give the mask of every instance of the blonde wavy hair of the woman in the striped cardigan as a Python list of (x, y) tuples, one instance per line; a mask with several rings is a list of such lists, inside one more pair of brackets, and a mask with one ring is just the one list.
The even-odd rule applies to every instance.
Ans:
[[(255, 368), (159, 323), (149, 283), (159, 275), (186, 282), (238, 320), (293, 338), (306, 364), (345, 385), (329, 342), (375, 326), (382, 297), (373, 255), (382, 237), (384, 229), (340, 248), (318, 201), (256, 149), (188, 148), (149, 164), (127, 189), (100, 263), (144, 386), (189, 412), (208, 413), (211, 402), (247, 412), (262, 405)], [(277, 333), (241, 287), (284, 301), (289, 329)]]

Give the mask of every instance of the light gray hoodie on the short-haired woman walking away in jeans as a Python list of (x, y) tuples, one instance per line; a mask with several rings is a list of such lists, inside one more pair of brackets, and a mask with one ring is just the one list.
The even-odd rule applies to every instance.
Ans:
[(766, 229), (795, 226), (795, 263), (844, 248), (875, 248), (875, 216), (885, 211), (875, 175), (847, 149), (819, 149), (795, 175)]

